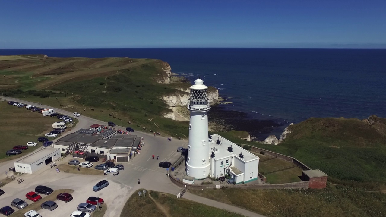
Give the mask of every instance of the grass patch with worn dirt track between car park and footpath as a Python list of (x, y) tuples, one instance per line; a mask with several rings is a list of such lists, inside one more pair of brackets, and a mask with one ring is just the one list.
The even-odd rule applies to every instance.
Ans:
[[(140, 189), (142, 192), (143, 189)], [(149, 193), (149, 192), (148, 192)], [(139, 198), (134, 193), (126, 202), (120, 217), (242, 217), (242, 215), (210, 207), (201, 203), (176, 198), (161, 192)]]

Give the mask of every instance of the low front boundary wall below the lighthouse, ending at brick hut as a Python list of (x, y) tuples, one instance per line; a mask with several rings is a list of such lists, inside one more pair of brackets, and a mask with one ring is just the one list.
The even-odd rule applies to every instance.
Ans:
[[(177, 180), (173, 176), (169, 176), (170, 180), (181, 188), (187, 189), (214, 189), (216, 185), (191, 185), (183, 183), (182, 181)], [(292, 183), (283, 183), (283, 184), (256, 184), (256, 185), (220, 185), (220, 188), (240, 188), (240, 189), (307, 189), (310, 181), (298, 181)]]

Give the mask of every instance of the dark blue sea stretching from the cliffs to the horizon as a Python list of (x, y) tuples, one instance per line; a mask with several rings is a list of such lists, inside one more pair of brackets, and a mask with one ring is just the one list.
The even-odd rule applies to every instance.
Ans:
[(161, 59), (173, 73), (218, 88), (223, 102), (232, 102), (221, 110), (276, 123), (255, 133), (251, 125), (247, 131), (259, 140), (309, 117), (386, 117), (386, 49), (0, 49), (13, 54)]

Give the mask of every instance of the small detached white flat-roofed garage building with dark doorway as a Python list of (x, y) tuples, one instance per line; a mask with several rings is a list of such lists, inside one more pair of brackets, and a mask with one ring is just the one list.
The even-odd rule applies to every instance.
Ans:
[(60, 157), (60, 149), (52, 147), (42, 147), (42, 149), (14, 162), (15, 171), (17, 173), (32, 174), (44, 168), (47, 164), (50, 164), (52, 161)]

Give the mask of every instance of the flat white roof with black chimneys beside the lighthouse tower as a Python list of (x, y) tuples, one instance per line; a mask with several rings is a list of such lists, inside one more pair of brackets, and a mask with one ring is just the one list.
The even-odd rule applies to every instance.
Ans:
[[(217, 138), (218, 140), (220, 140), (219, 145), (216, 144)], [(232, 146), (232, 149), (233, 149), (232, 152), (228, 151), (228, 147), (230, 146)], [(233, 142), (225, 139), (224, 137), (218, 134), (212, 135), (212, 139), (209, 140), (209, 148), (210, 148), (209, 154), (211, 154), (213, 151), (213, 153), (215, 154), (215, 159), (226, 158), (226, 157), (232, 156), (232, 154), (234, 154), (234, 156), (239, 160), (245, 161), (245, 162), (259, 159), (259, 157), (257, 157), (256, 155), (250, 153), (249, 151), (243, 149), (242, 147), (234, 144)], [(243, 158), (240, 158), (239, 156), (240, 153), (243, 154)]]

